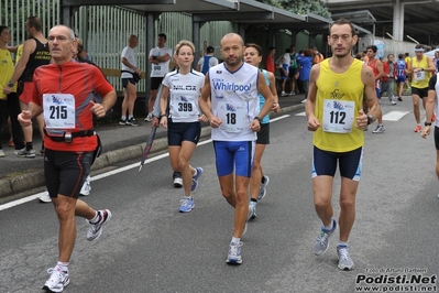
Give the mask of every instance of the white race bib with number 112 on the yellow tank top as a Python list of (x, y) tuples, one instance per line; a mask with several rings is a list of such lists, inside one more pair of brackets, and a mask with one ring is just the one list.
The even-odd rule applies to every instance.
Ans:
[(355, 102), (348, 100), (323, 100), (323, 131), (349, 133), (352, 130)]

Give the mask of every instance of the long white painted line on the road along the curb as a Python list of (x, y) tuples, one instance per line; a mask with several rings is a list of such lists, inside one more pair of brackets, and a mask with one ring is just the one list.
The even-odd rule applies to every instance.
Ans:
[[(288, 118), (288, 117), (289, 117), (289, 115), (279, 116), (279, 117), (276, 117), (274, 119), (271, 119), (270, 122), (275, 122), (275, 121), (278, 121), (281, 119)], [(212, 140), (210, 140), (210, 139), (209, 140), (205, 140), (205, 141), (198, 142), (197, 146), (198, 145), (204, 145), (204, 144), (207, 144), (207, 143), (210, 143), (210, 142), (212, 142)], [(152, 163), (154, 161), (161, 160), (161, 159), (166, 158), (168, 155), (169, 155), (168, 153), (164, 153), (164, 154), (160, 154), (160, 155), (153, 156), (151, 159), (146, 159), (145, 164), (149, 164), (149, 163)], [(102, 174), (98, 174), (96, 176), (92, 176), (90, 178), (90, 181), (101, 180), (101, 178), (105, 178), (105, 177), (108, 177), (108, 176), (112, 176), (112, 175), (116, 175), (118, 173), (125, 172), (128, 170), (135, 169), (135, 167), (139, 169), (139, 162), (130, 164), (130, 165), (127, 165), (127, 166), (122, 166), (122, 167), (119, 167), (119, 169), (116, 169), (116, 170), (111, 170), (111, 171), (105, 172)], [(10, 203), (6, 203), (3, 205), (0, 205), (0, 210), (4, 210), (4, 209), (8, 209), (8, 208), (18, 206), (18, 205), (22, 205), (22, 204), (35, 200), (35, 199), (40, 198), (40, 196), (44, 195), (45, 193), (46, 192), (42, 192), (42, 193), (33, 194), (33, 195), (30, 195), (30, 196), (26, 196), (26, 197), (10, 202)]]

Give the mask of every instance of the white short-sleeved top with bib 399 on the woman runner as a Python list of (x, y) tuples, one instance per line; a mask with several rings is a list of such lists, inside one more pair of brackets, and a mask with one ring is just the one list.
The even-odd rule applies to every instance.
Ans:
[(205, 85), (205, 75), (193, 69), (185, 75), (175, 70), (166, 74), (162, 84), (169, 88), (169, 116), (173, 122), (197, 122), (200, 116), (198, 98)]

